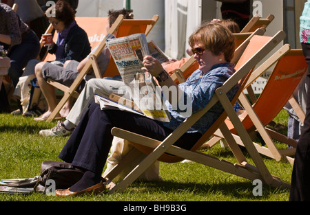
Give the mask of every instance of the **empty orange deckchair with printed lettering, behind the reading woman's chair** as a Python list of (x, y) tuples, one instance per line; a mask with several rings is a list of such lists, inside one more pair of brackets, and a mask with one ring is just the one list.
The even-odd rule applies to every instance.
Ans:
[[(283, 45), (278, 52), (273, 54), (273, 56), (252, 73), (247, 86), (249, 86), (251, 82), (254, 82), (254, 80), (269, 69), (269, 67), (274, 65), (274, 63), (276, 63), (276, 65), (273, 67), (273, 71), (271, 71), (267, 84), (258, 97), (258, 100), (256, 100), (253, 105), (247, 100), (245, 94), (241, 93), (239, 100), (245, 108), (245, 113), (240, 115), (240, 119), (247, 132), (251, 133), (251, 137), (256, 137), (256, 133), (259, 133), (264, 140), (267, 147), (260, 146), (260, 144), (254, 142), (254, 146), (256, 146), (258, 152), (267, 157), (276, 159), (276, 161), (284, 160), (293, 164), (294, 159), (290, 156), (295, 155), (297, 146), (296, 140), (290, 139), (266, 126), (291, 99), (291, 95), (298, 86), (302, 76), (307, 73), (307, 63), (302, 54), (302, 49), (290, 49), (289, 45)], [(293, 108), (294, 107), (295, 106), (293, 106)], [(240, 142), (240, 138), (236, 135), (234, 126), (229, 120), (226, 120), (225, 123), (231, 133), (234, 134), (238, 144), (242, 146), (242, 142)], [(223, 135), (219, 135), (218, 133), (216, 133), (216, 135), (217, 137), (223, 137)], [(294, 148), (278, 149), (272, 138), (288, 144), (289, 146), (293, 146)], [(211, 146), (214, 142), (216, 142), (216, 139), (205, 144), (205, 146)]]

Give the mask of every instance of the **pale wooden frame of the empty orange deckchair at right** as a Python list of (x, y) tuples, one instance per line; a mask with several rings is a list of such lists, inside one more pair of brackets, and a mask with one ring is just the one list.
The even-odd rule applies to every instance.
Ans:
[[(274, 63), (278, 62), (278, 60), (280, 60), (280, 58), (282, 58), (283, 56), (290, 56), (290, 55), (302, 56), (302, 50), (301, 49), (291, 50), (291, 48), (289, 47), (288, 44), (283, 45), (280, 49), (278, 49), (278, 51), (275, 54), (273, 54), (269, 59), (267, 59), (265, 61), (265, 63), (263, 63), (260, 67), (258, 67), (258, 69), (256, 69), (256, 71), (254, 71), (252, 73), (252, 76), (249, 78), (249, 80), (247, 82), (247, 87), (249, 87), (249, 85), (252, 82), (254, 82), (254, 80), (256, 80), (256, 78), (261, 76), (262, 73), (264, 73), (267, 69), (269, 69), (269, 67), (274, 65)], [(300, 74), (304, 74), (307, 72), (307, 64), (305, 61), (304, 61), (303, 66), (304, 66), (304, 71), (303, 71), (303, 73), (300, 73)], [(300, 71), (300, 72), (302, 72), (302, 71)], [(298, 74), (298, 76), (300, 76), (300, 74)], [(254, 146), (256, 146), (256, 149), (258, 150), (258, 152), (260, 152), (262, 155), (265, 155), (267, 157), (271, 157), (272, 159), (276, 159), (276, 161), (280, 161), (280, 160), (289, 161), (289, 163), (293, 164), (294, 159), (291, 156), (295, 155), (295, 152), (296, 152), (296, 146), (297, 146), (296, 140), (290, 139), (290, 138), (286, 137), (285, 135), (282, 135), (276, 131), (271, 130), (270, 128), (267, 128), (265, 124), (262, 124), (262, 122), (260, 121), (260, 117), (254, 111), (253, 106), (251, 105), (249, 100), (247, 100), (247, 97), (245, 96), (244, 93), (241, 93), (239, 100), (240, 100), (240, 103), (242, 104), (242, 106), (247, 111), (247, 115), (251, 119), (251, 122), (253, 122), (254, 127), (256, 128), (255, 131), (249, 131), (249, 132), (251, 132), (253, 134), (259, 133), (260, 137), (262, 137), (262, 139), (264, 140), (264, 142), (267, 146), (267, 147), (260, 146), (260, 144), (256, 144), (254, 142), (253, 144), (254, 144)], [(289, 100), (291, 100), (291, 99), (289, 99)], [(296, 112), (302, 111), (300, 109), (300, 106), (298, 105), (298, 103), (297, 104), (295, 104), (295, 102), (291, 102), (291, 103), (292, 104), (294, 103), (293, 109), (297, 109)], [(245, 117), (245, 116), (242, 116), (242, 117)], [(220, 133), (218, 133), (218, 132), (216, 132), (214, 135), (215, 135), (215, 137), (212, 138), (209, 142), (207, 142), (207, 144), (205, 144), (204, 147), (211, 147), (214, 144), (216, 144), (216, 142), (218, 142), (218, 140), (223, 138), (223, 135), (220, 135)], [(234, 138), (236, 139), (236, 142), (238, 142), (238, 144), (243, 146), (242, 142), (240, 142), (240, 138), (238, 137), (238, 135), (234, 134)], [(285, 144), (293, 146), (294, 148), (278, 149), (276, 147), (276, 144), (273, 142), (273, 139), (276, 139), (279, 142), (283, 142)]]

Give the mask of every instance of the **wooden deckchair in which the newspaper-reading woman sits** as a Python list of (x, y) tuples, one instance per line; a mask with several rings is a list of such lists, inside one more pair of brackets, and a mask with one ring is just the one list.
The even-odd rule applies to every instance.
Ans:
[[(270, 174), (233, 108), (233, 104), (236, 102), (238, 94), (243, 90), (243, 87), (245, 87), (245, 83), (249, 77), (249, 71), (251, 71), (251, 69), (253, 69), (253, 67), (258, 64), (260, 60), (266, 56), (266, 54), (271, 52), (271, 50), (276, 47), (276, 45), (284, 38), (284, 32), (278, 32), (278, 34), (270, 38), (266, 45), (264, 45), (254, 56), (247, 60), (247, 63), (242, 65), (242, 67), (240, 67), (240, 69), (238, 69), (238, 71), (236, 71), (236, 73), (234, 73), (234, 75), (231, 76), (231, 78), (229, 78), (229, 80), (227, 80), (222, 87), (219, 87), (216, 90), (214, 97), (211, 99), (209, 104), (207, 104), (205, 109), (199, 111), (198, 113), (194, 113), (192, 116), (187, 118), (187, 120), (178, 126), (178, 128), (176, 128), (176, 130), (171, 135), (163, 140), (163, 142), (124, 131), (120, 128), (112, 128), (112, 135), (127, 139), (128, 141), (132, 142), (136, 149), (127, 154), (127, 156), (125, 156), (117, 166), (115, 166), (109, 173), (107, 173), (104, 176), (105, 179), (112, 181), (118, 172), (120, 172), (123, 167), (126, 166), (127, 162), (137, 162), (137, 165), (132, 170), (132, 172), (127, 174), (127, 176), (122, 181), (114, 186), (111, 185), (111, 188), (113, 188), (110, 190), (110, 193), (116, 191), (122, 192), (125, 190), (127, 186), (131, 185), (132, 182), (136, 180), (137, 177), (156, 160), (176, 162), (183, 159), (189, 159), (198, 163), (202, 163), (205, 166), (210, 166), (212, 168), (217, 168), (218, 170), (236, 174), (240, 177), (245, 177), (246, 179), (260, 179), (262, 182), (265, 182), (273, 187), (289, 187), (288, 183), (280, 181), (278, 177), (274, 177)], [(245, 78), (246, 76), (247, 78)], [(236, 94), (235, 98), (232, 101), (229, 101), (226, 93), (238, 82), (242, 82), (240, 90)], [(198, 142), (193, 146), (192, 150), (185, 150), (183, 148), (173, 146), (174, 142), (176, 142), (176, 140), (181, 135), (183, 135), (193, 124), (195, 124), (195, 122), (197, 122), (200, 117), (207, 113), (207, 111), (209, 111), (209, 109), (214, 106), (216, 102), (220, 102), (225, 111), (203, 135), (203, 137), (198, 140)], [(216, 131), (218, 128), (220, 128), (225, 136), (231, 136), (227, 126), (223, 123), (227, 116), (231, 119), (236, 128), (238, 128), (238, 133), (242, 138), (242, 142), (245, 144), (245, 147), (249, 151), (249, 155), (253, 159), (256, 166), (251, 166), (249, 163), (247, 163), (245, 156), (242, 154), (240, 148), (238, 148), (236, 142), (229, 142), (231, 151), (234, 153), (234, 156), (238, 161), (238, 163), (235, 165), (229, 163), (228, 161), (219, 160), (216, 157), (212, 157), (205, 153), (196, 151), (209, 137), (211, 137), (214, 131)], [(134, 155), (138, 150), (141, 150), (145, 153), (145, 159), (142, 161), (134, 161)]]

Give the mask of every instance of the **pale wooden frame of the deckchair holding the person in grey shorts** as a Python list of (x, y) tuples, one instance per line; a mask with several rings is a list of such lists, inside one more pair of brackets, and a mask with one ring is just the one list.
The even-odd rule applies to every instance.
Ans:
[[(145, 23), (147, 23), (147, 27), (145, 30), (145, 35), (147, 35), (147, 34), (149, 34), (149, 32), (152, 30), (152, 28), (154, 27), (154, 25), (158, 21), (158, 18), (159, 18), (158, 15), (154, 15), (153, 18), (149, 19), (149, 20), (144, 20), (144, 19), (143, 20), (142, 19), (130, 20), (130, 19), (123, 19), (123, 15), (119, 15), (118, 19), (116, 19), (116, 21), (114, 22), (112, 27), (110, 27), (110, 30), (108, 30), (107, 34), (114, 34), (114, 32), (117, 31), (118, 36), (119, 36), (119, 33), (121, 33), (121, 32), (118, 31), (118, 28), (121, 25), (126, 25), (126, 23), (127, 24), (135, 23), (136, 25), (145, 25)], [(121, 34), (121, 36), (125, 36), (125, 35)], [(61, 98), (61, 100), (57, 104), (56, 108), (54, 109), (54, 111), (52, 112), (50, 117), (48, 117), (48, 121), (54, 120), (56, 115), (59, 113), (59, 111), (61, 111), (62, 107), (65, 105), (65, 102), (67, 102), (70, 97), (77, 98), (79, 96), (79, 93), (76, 92), (76, 88), (79, 86), (79, 84), (83, 80), (83, 77), (85, 76), (85, 74), (87, 74), (88, 71), (90, 71), (90, 69), (93, 69), (96, 78), (102, 78), (101, 72), (99, 71), (99, 66), (96, 62), (96, 58), (99, 56), (99, 54), (101, 54), (101, 51), (103, 50), (104, 47), (105, 47), (105, 41), (102, 41), (99, 44), (99, 47), (96, 49), (96, 52), (94, 52), (94, 54), (90, 55), (90, 60), (87, 61), (86, 65), (83, 67), (81, 73), (79, 73), (79, 76), (76, 77), (76, 80), (74, 80), (74, 82), (72, 83), (72, 85), (70, 87), (66, 87), (63, 84), (60, 84), (60, 83), (55, 82), (54, 80), (48, 79), (49, 84), (51, 84), (52, 86), (54, 86), (57, 89), (60, 89), (61, 91), (64, 92), (63, 98)], [(112, 61), (113, 60), (111, 57), (109, 65), (107, 67), (107, 71), (105, 71), (105, 76), (108, 76), (110, 74), (109, 73), (110, 65), (113, 65), (113, 63), (114, 63), (114, 61), (113, 62)]]

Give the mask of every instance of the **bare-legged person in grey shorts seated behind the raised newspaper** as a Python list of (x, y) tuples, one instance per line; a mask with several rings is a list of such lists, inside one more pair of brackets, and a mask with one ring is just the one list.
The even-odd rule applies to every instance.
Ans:
[[(132, 14), (130, 14), (130, 10), (110, 10), (108, 12), (108, 23), (107, 23), (107, 30), (112, 26), (114, 21), (116, 21), (118, 15), (123, 14), (125, 16), (125, 19), (132, 19)], [(108, 35), (106, 39), (113, 38), (113, 35)], [(91, 54), (96, 51), (98, 48), (95, 47)], [(56, 107), (56, 95), (54, 93), (54, 87), (46, 80), (48, 78), (60, 82), (61, 84), (65, 84), (65, 86), (70, 87), (71, 84), (74, 82), (77, 76), (79, 76), (79, 73), (82, 71), (83, 67), (87, 64), (88, 60), (90, 60), (90, 56), (87, 56), (84, 58), (81, 63), (77, 62), (76, 60), (71, 60), (70, 62), (66, 62), (67, 66), (65, 68), (59, 67), (57, 65), (52, 65), (50, 63), (39, 63), (35, 67), (35, 74), (38, 78), (39, 85), (41, 86), (41, 91), (43, 92), (43, 95), (45, 96), (46, 101), (48, 102), (48, 111), (45, 112), (40, 117), (34, 118), (34, 120), (46, 120), (50, 114), (52, 114), (52, 111), (54, 111), (54, 108)], [(107, 65), (110, 61), (110, 52), (107, 47), (103, 49), (99, 57), (97, 58), (97, 63), (99, 65), (99, 70), (101, 71), (101, 75), (105, 72), (105, 69), (107, 69)], [(95, 78), (94, 72), (87, 73), (84, 80), (79, 85), (78, 89), (76, 91), (81, 92), (83, 88), (85, 87), (85, 83), (90, 80), (91, 78)], [(61, 117), (66, 117), (70, 111), (71, 104), (70, 102), (67, 102), (65, 104), (64, 108), (61, 110)]]

